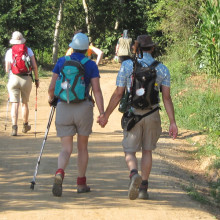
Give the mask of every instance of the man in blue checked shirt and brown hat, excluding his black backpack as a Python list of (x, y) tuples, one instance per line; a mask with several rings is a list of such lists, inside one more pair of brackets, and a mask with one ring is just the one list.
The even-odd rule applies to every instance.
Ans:
[[(143, 52), (143, 58), (138, 59), (138, 62), (141, 63), (142, 66), (151, 65), (155, 61), (151, 55), (154, 51), (155, 43), (148, 35), (138, 36), (136, 42), (140, 47), (140, 52)], [(157, 88), (161, 88), (162, 90), (163, 103), (170, 121), (169, 135), (173, 139), (175, 139), (178, 134), (178, 128), (175, 122), (174, 107), (170, 96), (170, 72), (168, 68), (162, 63), (159, 63), (156, 66), (155, 70), (155, 86), (157, 85)], [(98, 119), (98, 123), (102, 127), (106, 125), (109, 116), (116, 108), (116, 106), (119, 104), (125, 89), (131, 88), (130, 77), (132, 75), (132, 71), (133, 62), (130, 59), (124, 61), (118, 72), (116, 80), (117, 87), (112, 94), (108, 107), (105, 111), (104, 117), (100, 117)], [(152, 106), (152, 108), (150, 109), (138, 109), (132, 107), (128, 111), (132, 111), (134, 116), (151, 113), (150, 115), (142, 118), (138, 123), (134, 123), (134, 127), (131, 130), (128, 131), (128, 127), (127, 130), (126, 127), (123, 130), (124, 138), (122, 141), (122, 145), (125, 153), (125, 161), (130, 171), (128, 197), (131, 200), (136, 198), (148, 199), (149, 197), (148, 179), (152, 168), (152, 150), (156, 148), (156, 143), (162, 132), (158, 105), (159, 103)], [(142, 150), (141, 176), (138, 173), (138, 161), (136, 158), (136, 152), (140, 150)]]

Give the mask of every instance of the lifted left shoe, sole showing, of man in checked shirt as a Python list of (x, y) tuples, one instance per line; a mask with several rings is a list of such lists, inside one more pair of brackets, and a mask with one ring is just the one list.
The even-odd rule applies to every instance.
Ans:
[(141, 185), (142, 178), (136, 173), (130, 179), (129, 189), (128, 189), (128, 198), (134, 200), (138, 197), (138, 189)]

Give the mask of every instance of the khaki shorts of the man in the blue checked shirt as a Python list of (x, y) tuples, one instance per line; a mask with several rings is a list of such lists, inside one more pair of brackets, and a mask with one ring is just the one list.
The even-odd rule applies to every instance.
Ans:
[[(146, 112), (143, 111), (142, 114)], [(124, 138), (122, 146), (124, 152), (133, 153), (141, 149), (154, 150), (161, 132), (161, 120), (158, 110), (142, 118), (129, 132), (123, 131)]]

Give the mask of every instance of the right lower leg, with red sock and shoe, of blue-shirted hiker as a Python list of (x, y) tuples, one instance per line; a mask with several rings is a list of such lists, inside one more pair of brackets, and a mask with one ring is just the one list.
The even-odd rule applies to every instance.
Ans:
[(90, 187), (86, 184), (86, 170), (89, 160), (88, 154), (88, 140), (89, 136), (78, 135), (77, 149), (78, 149), (78, 177), (77, 177), (77, 192), (85, 193), (90, 191)]

